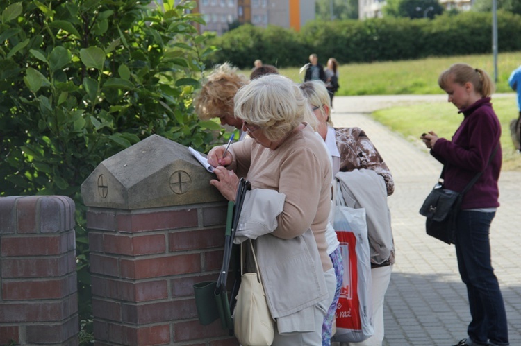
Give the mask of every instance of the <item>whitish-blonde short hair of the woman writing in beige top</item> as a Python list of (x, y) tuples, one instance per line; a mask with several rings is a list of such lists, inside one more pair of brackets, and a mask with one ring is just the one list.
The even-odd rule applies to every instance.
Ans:
[(241, 87), (235, 95), (235, 117), (258, 126), (270, 141), (279, 141), (304, 119), (316, 119), (299, 87), (287, 77), (268, 74)]

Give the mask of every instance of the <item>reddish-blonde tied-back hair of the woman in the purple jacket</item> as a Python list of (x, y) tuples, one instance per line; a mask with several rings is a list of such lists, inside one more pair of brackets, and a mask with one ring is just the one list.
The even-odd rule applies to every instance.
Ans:
[(474, 90), (483, 97), (488, 97), (494, 92), (494, 83), (488, 73), (482, 69), (474, 69), (468, 64), (453, 64), (440, 74), (438, 85), (445, 90), (451, 80), (459, 85), (472, 83)]

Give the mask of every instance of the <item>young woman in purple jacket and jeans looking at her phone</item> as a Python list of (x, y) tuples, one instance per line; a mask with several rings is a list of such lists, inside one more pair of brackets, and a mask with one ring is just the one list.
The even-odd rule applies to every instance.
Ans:
[(444, 187), (462, 191), (476, 173), (484, 170), (463, 197), (458, 214), (456, 257), (467, 286), (472, 321), (468, 337), (454, 346), (509, 345), (503, 297), (490, 259), (489, 231), (499, 207), (497, 180), (502, 162), (501, 125), (490, 103), (493, 83), (482, 69), (454, 64), (440, 74), (438, 85), (463, 114), (452, 141), (439, 138), (433, 131), (422, 135), (431, 155), (445, 165)]

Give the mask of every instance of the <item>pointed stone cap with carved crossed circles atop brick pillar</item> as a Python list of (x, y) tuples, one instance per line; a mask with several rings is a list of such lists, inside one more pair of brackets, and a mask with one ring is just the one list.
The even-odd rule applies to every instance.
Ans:
[(81, 196), (88, 207), (127, 210), (223, 201), (212, 179), (187, 147), (151, 135), (101, 162)]

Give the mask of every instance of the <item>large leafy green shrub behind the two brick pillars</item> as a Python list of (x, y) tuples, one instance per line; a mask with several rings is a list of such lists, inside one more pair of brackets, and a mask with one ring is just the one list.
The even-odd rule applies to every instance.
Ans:
[[(220, 127), (192, 94), (213, 48), (194, 1), (0, 0), (0, 196), (76, 202), (80, 319), (90, 313), (80, 185), (152, 134), (206, 150)], [(208, 131), (208, 129), (210, 131)]]

